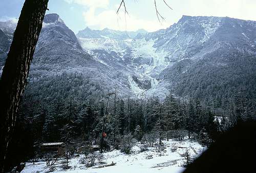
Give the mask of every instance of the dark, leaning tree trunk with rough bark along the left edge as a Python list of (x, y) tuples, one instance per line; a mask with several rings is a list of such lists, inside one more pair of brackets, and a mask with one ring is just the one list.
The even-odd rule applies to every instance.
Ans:
[(0, 81), (0, 171), (4, 171), (6, 151), (15, 126), (35, 46), (49, 0), (26, 0), (8, 53)]

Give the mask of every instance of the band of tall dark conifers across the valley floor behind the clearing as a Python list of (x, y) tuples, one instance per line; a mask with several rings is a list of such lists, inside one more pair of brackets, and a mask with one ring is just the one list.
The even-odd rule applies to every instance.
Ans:
[[(24, 103), (20, 108), (11, 151), (20, 157), (33, 156), (34, 145), (41, 142), (88, 142), (99, 144), (102, 135), (106, 97), (91, 97), (79, 103), (75, 99), (55, 97), (51, 103)], [(179, 98), (172, 94), (164, 101), (158, 97), (121, 98), (112, 93), (106, 110), (106, 142), (115, 146), (118, 137), (132, 134), (141, 139), (144, 134), (156, 133), (164, 138), (189, 136), (201, 142), (215, 140), (218, 135), (238, 121), (255, 118), (255, 103), (239, 93), (228, 101), (209, 98)], [(185, 133), (178, 136), (175, 133)], [(207, 134), (207, 136), (202, 136)], [(17, 140), (18, 139), (18, 140)], [(204, 139), (206, 141), (204, 141)]]

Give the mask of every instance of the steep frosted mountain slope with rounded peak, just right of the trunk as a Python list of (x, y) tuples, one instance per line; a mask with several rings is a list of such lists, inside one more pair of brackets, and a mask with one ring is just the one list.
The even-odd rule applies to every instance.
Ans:
[[(1, 58), (3, 62), (6, 55)], [(27, 89), (27, 93), (35, 88), (38, 92), (63, 91), (63, 96), (80, 92), (80, 99), (85, 100), (117, 87), (121, 95), (132, 95), (127, 80), (123, 70), (100, 63), (82, 50), (73, 31), (57, 14), (45, 16), (29, 73), (33, 89)]]

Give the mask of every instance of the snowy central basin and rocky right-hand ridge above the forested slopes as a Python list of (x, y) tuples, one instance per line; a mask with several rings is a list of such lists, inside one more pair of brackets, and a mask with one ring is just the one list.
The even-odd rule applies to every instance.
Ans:
[[(174, 87), (174, 81), (170, 82), (173, 79), (170, 75), (172, 66), (185, 63), (190, 68), (196, 62), (209, 58), (210, 61), (214, 58), (226, 61), (222, 57), (255, 56), (255, 29), (255, 21), (183, 16), (166, 30), (138, 33), (134, 38), (113, 30), (113, 35), (104, 35), (105, 30), (89, 28), (80, 31), (77, 37), (84, 50), (100, 62), (111, 66), (123, 65), (134, 71), (135, 80), (129, 77), (129, 83), (136, 94), (144, 92), (164, 96)], [(188, 69), (183, 70), (185, 73)], [(140, 84), (143, 79), (146, 84), (150, 81), (148, 87)]]

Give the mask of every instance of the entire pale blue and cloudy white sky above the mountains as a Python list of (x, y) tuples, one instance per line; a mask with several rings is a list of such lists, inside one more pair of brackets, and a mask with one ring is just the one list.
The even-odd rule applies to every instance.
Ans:
[[(256, 0), (156, 0), (159, 13), (165, 18), (159, 22), (154, 0), (125, 0), (117, 14), (121, 0), (49, 0), (47, 14), (57, 13), (75, 33), (86, 27), (120, 31), (145, 29), (153, 32), (178, 22), (182, 15), (220, 16), (256, 21)], [(0, 21), (19, 17), (24, 0), (1, 0)]]

